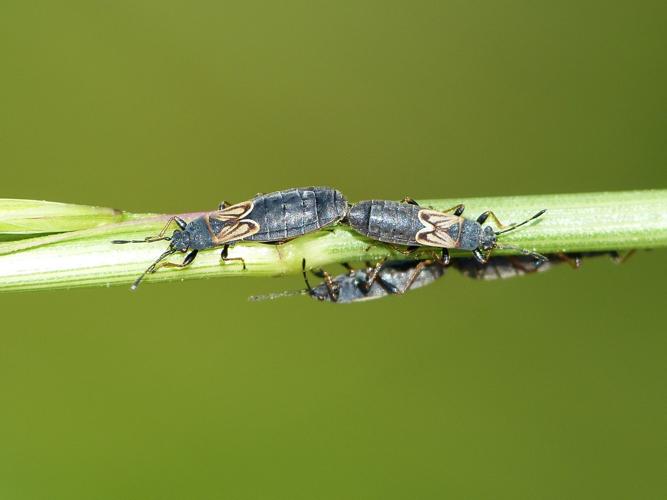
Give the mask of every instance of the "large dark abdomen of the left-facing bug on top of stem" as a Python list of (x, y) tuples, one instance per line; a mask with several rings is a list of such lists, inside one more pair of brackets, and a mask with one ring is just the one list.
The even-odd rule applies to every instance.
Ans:
[(258, 196), (246, 216), (259, 224), (247, 240), (283, 241), (339, 221), (347, 210), (340, 191), (327, 187), (286, 189)]

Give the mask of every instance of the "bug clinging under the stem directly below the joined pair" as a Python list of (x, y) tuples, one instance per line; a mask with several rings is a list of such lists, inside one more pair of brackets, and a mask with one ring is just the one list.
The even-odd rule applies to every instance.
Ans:
[(304, 259), (302, 273), (306, 284), (305, 289), (256, 295), (250, 297), (250, 300), (272, 300), (294, 295), (309, 295), (319, 301), (348, 304), (402, 294), (407, 290), (429, 285), (442, 277), (446, 270), (446, 267), (439, 261), (432, 260), (390, 261), (384, 263), (379, 272), (375, 271), (376, 266), (371, 263), (367, 263), (363, 269), (352, 269), (347, 264), (343, 265), (348, 272), (337, 276), (331, 276), (323, 270), (314, 270), (313, 273), (323, 281), (313, 287), (308, 280)]

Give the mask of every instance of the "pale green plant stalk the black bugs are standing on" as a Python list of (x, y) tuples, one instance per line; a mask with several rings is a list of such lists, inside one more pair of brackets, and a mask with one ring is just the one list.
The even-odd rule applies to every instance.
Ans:
[[(540, 253), (667, 246), (667, 190), (421, 200), (420, 203), (436, 209), (465, 203), (465, 214), (469, 217), (492, 209), (505, 222), (523, 220), (546, 208), (547, 213), (534, 223), (502, 236), (507, 244)], [(40, 234), (40, 230), (63, 231), (62, 234), (0, 243), (0, 291), (129, 285), (167, 247), (164, 241), (113, 245), (111, 240), (141, 239), (156, 234), (168, 215), (137, 215), (109, 212), (110, 209), (87, 212), (91, 207), (81, 207), (83, 215), (79, 217), (75, 214), (76, 206), (68, 207), (75, 221), (71, 225), (65, 224), (65, 219), (58, 222), (57, 214), (54, 215), (56, 222), (50, 225), (48, 216), (37, 212), (33, 212), (33, 216), (39, 217), (39, 227), (27, 225), (36, 234)], [(12, 218), (4, 215), (0, 213), (0, 221), (5, 221), (5, 225), (0, 226), (0, 234), (7, 228), (16, 228)], [(199, 213), (180, 215), (191, 220)], [(56, 227), (58, 231), (48, 231)], [(428, 249), (409, 258), (427, 255)], [(454, 257), (457, 255), (462, 253), (453, 252)], [(340, 224), (282, 245), (241, 242), (230, 249), (229, 256), (243, 257), (247, 269), (244, 271), (236, 262), (222, 263), (219, 249), (212, 249), (200, 252), (187, 269), (160, 269), (149, 275), (145, 284), (218, 276), (293, 274), (301, 271), (303, 258), (312, 268), (385, 257), (408, 258)], [(174, 255), (172, 261), (178, 262), (182, 257)]]

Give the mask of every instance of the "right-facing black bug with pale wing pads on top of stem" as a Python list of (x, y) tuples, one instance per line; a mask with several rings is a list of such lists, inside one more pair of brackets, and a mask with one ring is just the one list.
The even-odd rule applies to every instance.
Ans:
[[(473, 257), (483, 264), (495, 248), (518, 250), (524, 255), (546, 260), (546, 257), (535, 252), (498, 244), (499, 235), (514, 231), (540, 217), (546, 210), (540, 210), (523, 222), (506, 226), (492, 211), (470, 220), (461, 216), (464, 209), (464, 205), (456, 205), (445, 211), (422, 208), (411, 198), (405, 198), (402, 203), (366, 200), (350, 208), (345, 222), (364, 236), (394, 245), (405, 245), (410, 247), (408, 251), (418, 246), (439, 247), (442, 249), (441, 262), (445, 265), (449, 263), (450, 248), (471, 250)], [(494, 231), (491, 226), (482, 227), (489, 217), (500, 231)]]

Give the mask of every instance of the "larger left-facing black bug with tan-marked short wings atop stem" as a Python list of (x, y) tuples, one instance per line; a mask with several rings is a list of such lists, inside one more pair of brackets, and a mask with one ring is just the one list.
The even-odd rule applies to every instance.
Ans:
[[(222, 202), (218, 210), (208, 212), (190, 222), (178, 216), (169, 219), (157, 236), (143, 240), (114, 240), (112, 243), (152, 243), (169, 241), (169, 248), (162, 253), (132, 284), (135, 290), (147, 274), (160, 267), (187, 267), (200, 250), (222, 247), (223, 261), (245, 261), (240, 257), (228, 257), (234, 243), (259, 241), (282, 243), (297, 236), (316, 231), (341, 220), (348, 208), (343, 194), (329, 187), (304, 187), (260, 194), (253, 199), (229, 205)], [(171, 236), (165, 236), (172, 223), (178, 225)], [(168, 256), (187, 253), (180, 264), (163, 262)]]

